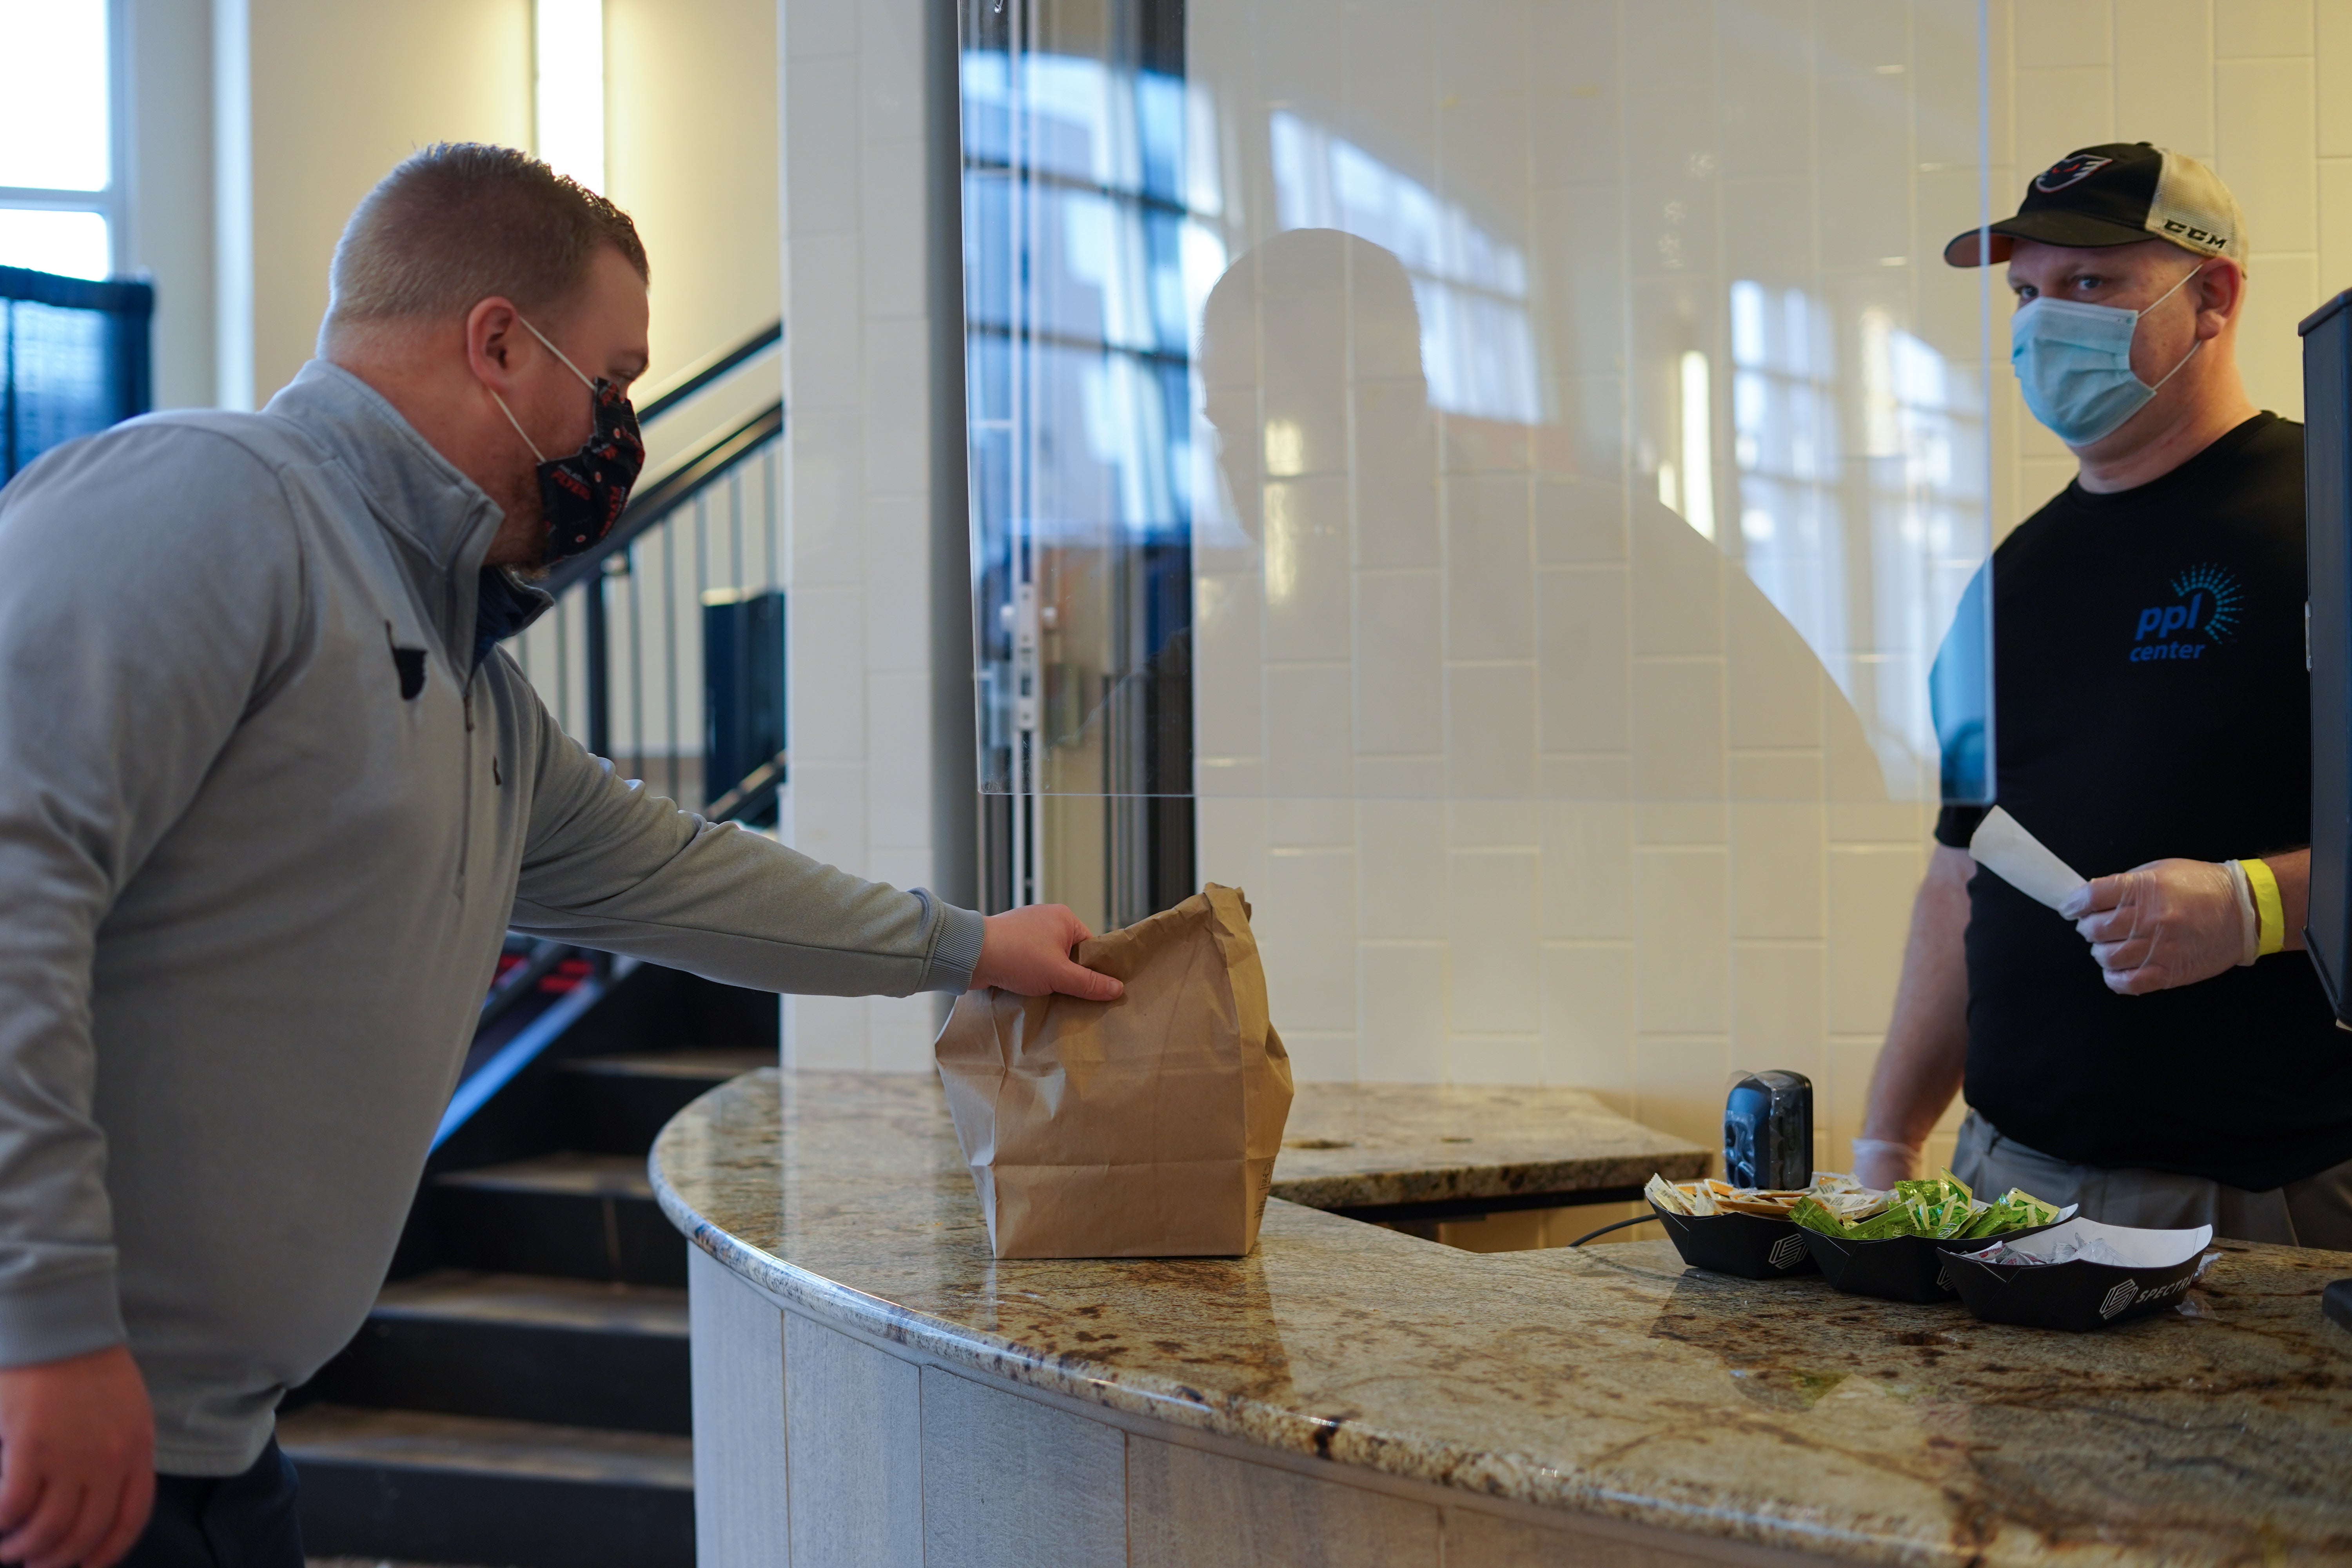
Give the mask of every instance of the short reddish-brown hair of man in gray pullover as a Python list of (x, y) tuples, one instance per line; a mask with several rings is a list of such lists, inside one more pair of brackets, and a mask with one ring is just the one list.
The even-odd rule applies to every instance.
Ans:
[(652, 280), (637, 226), (595, 190), (515, 148), (440, 141), (353, 209), (327, 268), (322, 334), (463, 315), (492, 294), (553, 315), (604, 244)]

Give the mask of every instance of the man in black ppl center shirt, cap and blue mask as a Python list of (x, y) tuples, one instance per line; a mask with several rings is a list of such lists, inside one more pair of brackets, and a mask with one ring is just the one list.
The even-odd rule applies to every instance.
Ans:
[(2298, 952), (2303, 428), (2246, 397), (2244, 254), (2220, 179), (2147, 143), (2063, 158), (1945, 249), (2009, 263), (2025, 402), (2082, 465), (1990, 564), (1992, 766), (2093, 882), (2053, 912), (1976, 867), (1983, 809), (1943, 811), (1856, 1140), (1875, 1187), (1964, 1084), (1980, 1190), (2352, 1248), (2352, 1034)]

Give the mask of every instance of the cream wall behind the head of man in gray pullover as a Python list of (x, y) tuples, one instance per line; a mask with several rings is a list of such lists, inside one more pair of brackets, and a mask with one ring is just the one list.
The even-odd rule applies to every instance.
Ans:
[[(186, 0), (176, 0), (186, 2)], [(532, 146), (529, 0), (214, 0), (221, 402), (318, 341), (343, 221), (433, 141)], [(607, 195), (654, 263), (659, 386), (776, 320), (776, 14), (607, 0)]]

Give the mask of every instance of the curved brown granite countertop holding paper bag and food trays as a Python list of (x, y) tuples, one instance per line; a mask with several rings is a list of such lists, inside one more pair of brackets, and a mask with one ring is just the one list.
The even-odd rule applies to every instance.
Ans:
[(811, 1314), (1341, 1465), (1879, 1563), (2352, 1554), (2352, 1335), (2319, 1312), (2345, 1253), (2223, 1244), (2199, 1316), (2096, 1335), (1284, 1201), (1249, 1258), (997, 1262), (922, 1077), (736, 1079), (654, 1187)]

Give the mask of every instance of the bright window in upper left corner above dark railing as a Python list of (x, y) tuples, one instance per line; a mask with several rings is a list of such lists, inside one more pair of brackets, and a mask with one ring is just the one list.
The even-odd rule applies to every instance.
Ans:
[(111, 12), (108, 0), (0, 0), (0, 266), (118, 270)]

